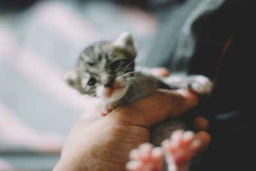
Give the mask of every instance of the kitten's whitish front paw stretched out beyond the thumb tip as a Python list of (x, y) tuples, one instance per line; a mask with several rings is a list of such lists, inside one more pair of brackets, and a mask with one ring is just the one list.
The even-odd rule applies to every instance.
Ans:
[(189, 87), (198, 94), (210, 94), (212, 91), (212, 82), (204, 75), (196, 75), (192, 77)]

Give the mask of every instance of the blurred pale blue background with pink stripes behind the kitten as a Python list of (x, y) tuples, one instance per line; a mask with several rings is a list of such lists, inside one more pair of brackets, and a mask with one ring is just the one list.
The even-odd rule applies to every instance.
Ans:
[(0, 1), (0, 170), (51, 170), (88, 100), (62, 75), (84, 47), (132, 33), (138, 64), (170, 68), (200, 0)]

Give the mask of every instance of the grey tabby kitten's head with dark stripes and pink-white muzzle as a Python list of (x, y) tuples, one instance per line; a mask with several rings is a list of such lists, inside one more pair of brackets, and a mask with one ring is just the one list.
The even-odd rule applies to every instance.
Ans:
[(99, 41), (85, 48), (65, 79), (82, 94), (119, 100), (129, 88), (135, 57), (131, 34), (125, 32), (115, 41)]

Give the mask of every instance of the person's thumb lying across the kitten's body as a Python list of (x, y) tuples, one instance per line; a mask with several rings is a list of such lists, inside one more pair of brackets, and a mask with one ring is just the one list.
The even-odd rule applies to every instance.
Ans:
[(177, 117), (195, 107), (198, 97), (188, 89), (157, 89), (129, 105), (116, 108), (117, 117), (125, 122), (150, 128), (168, 117)]

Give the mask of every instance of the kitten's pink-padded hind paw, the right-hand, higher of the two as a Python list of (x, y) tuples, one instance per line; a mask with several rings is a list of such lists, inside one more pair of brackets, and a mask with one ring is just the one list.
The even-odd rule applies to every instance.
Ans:
[(175, 131), (170, 140), (162, 142), (169, 170), (186, 170), (188, 163), (200, 147), (192, 131)]

